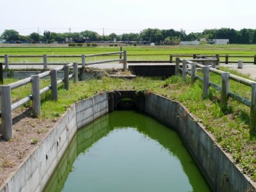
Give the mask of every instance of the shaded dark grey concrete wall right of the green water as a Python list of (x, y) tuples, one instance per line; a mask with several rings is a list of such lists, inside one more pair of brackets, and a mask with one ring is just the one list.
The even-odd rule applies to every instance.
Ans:
[(146, 97), (145, 112), (177, 129), (214, 191), (256, 191), (255, 182), (240, 172), (181, 104), (150, 94)]

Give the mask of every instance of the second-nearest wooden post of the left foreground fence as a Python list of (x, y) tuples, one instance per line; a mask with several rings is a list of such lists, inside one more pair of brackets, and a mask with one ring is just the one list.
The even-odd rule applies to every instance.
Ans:
[(31, 76), (32, 111), (33, 116), (41, 115), (39, 76)]

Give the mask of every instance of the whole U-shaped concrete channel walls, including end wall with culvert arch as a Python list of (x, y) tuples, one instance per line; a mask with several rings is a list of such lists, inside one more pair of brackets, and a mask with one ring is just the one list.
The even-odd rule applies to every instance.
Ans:
[(116, 102), (125, 97), (134, 99), (140, 111), (175, 127), (213, 191), (256, 191), (255, 182), (241, 173), (184, 106), (154, 93), (135, 91), (99, 93), (74, 104), (0, 191), (42, 191), (77, 129), (115, 110)]

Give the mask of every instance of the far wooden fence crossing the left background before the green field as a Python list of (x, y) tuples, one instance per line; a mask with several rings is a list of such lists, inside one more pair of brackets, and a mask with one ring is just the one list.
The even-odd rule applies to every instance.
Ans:
[[(120, 51), (118, 52), (108, 52), (108, 53), (102, 53), (102, 54), (82, 54), (82, 55), (8, 55), (4, 54), (4, 56), (0, 56), (0, 58), (4, 58), (4, 68), (9, 68), (9, 65), (44, 65), (44, 70), (47, 70), (47, 65), (65, 65), (67, 63), (48, 63), (47, 58), (81, 58), (81, 63), (77, 63), (78, 65), (82, 65), (82, 67), (85, 67), (86, 65), (94, 65), (94, 64), (100, 64), (100, 63), (111, 63), (111, 62), (123, 62), (124, 63), (124, 69), (127, 69), (127, 52), (126, 51)], [(103, 60), (103, 61), (95, 61), (95, 62), (87, 62), (86, 58), (90, 57), (98, 57), (98, 56), (113, 56), (118, 55), (119, 59), (115, 60)], [(122, 58), (122, 55), (124, 57)], [(42, 58), (42, 63), (10, 63), (9, 58)]]

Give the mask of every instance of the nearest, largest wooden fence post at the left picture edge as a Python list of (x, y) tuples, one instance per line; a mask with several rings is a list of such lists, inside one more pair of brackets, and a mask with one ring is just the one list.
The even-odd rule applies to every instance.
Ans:
[(2, 136), (4, 140), (10, 140), (12, 138), (12, 102), (9, 85), (0, 86), (0, 99)]

